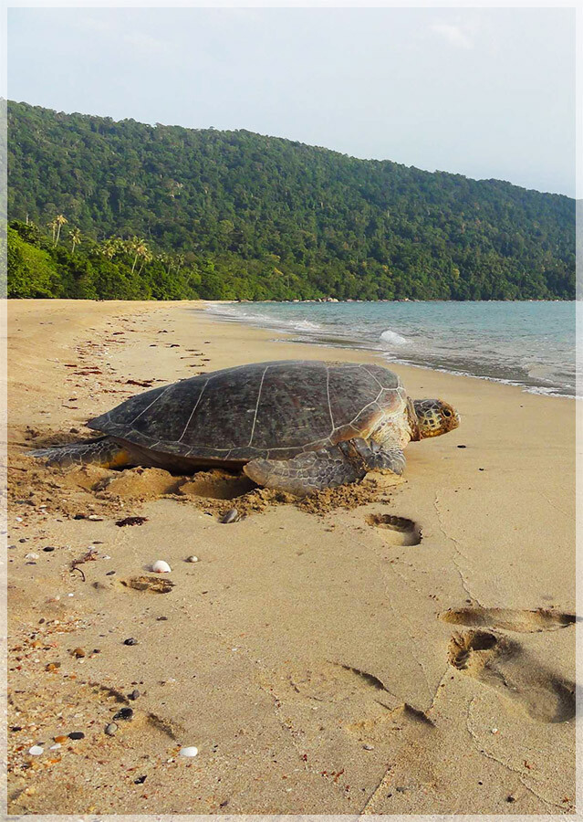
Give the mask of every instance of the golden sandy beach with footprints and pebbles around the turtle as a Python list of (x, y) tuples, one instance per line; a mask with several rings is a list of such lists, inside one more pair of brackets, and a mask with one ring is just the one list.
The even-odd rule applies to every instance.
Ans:
[(149, 385), (374, 360), (199, 308), (9, 306), (9, 812), (573, 813), (575, 403), (399, 367), (462, 426), (300, 505), (23, 456)]

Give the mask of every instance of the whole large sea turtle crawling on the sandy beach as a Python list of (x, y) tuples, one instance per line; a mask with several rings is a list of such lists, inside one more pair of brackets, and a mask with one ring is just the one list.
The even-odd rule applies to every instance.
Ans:
[(303, 496), (370, 469), (401, 474), (411, 439), (459, 423), (442, 400), (411, 400), (388, 368), (291, 360), (154, 388), (89, 420), (104, 437), (32, 454), (60, 466), (243, 468), (258, 485)]

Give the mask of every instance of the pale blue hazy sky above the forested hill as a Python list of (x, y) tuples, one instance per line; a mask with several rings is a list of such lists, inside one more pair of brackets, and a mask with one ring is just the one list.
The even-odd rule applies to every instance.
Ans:
[(575, 195), (572, 8), (11, 8), (8, 97)]

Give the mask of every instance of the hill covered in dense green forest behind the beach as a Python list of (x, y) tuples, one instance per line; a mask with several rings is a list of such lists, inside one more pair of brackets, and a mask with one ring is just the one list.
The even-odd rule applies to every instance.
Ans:
[[(192, 272), (182, 296), (575, 295), (575, 201), (566, 196), (252, 132), (15, 102), (8, 116), (10, 219), (27, 216), (45, 235), (51, 224), (50, 246), (64, 216), (69, 233), (78, 230), (73, 252), (89, 258), (108, 238), (142, 239), (150, 280), (157, 254), (180, 255)], [(67, 236), (57, 243), (70, 248)]]

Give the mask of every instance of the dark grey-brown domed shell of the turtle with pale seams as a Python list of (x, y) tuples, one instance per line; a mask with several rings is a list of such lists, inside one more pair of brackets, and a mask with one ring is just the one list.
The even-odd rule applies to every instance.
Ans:
[(404, 412), (397, 374), (373, 364), (255, 363), (131, 397), (88, 422), (141, 448), (204, 460), (286, 459)]

